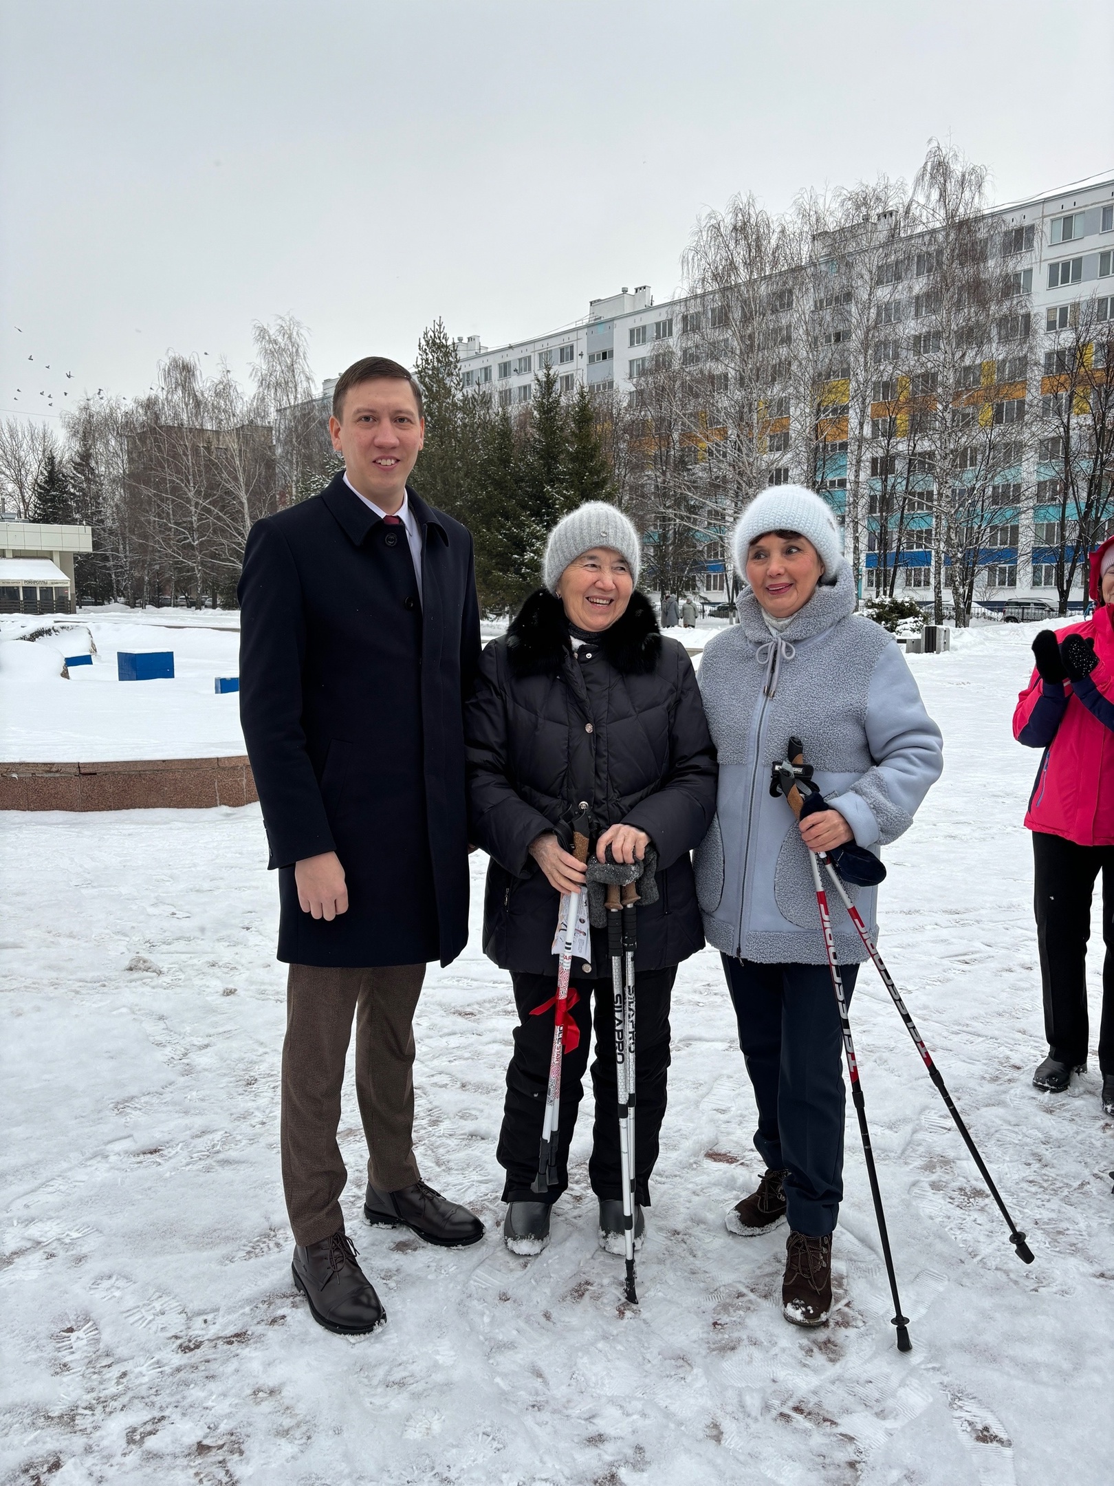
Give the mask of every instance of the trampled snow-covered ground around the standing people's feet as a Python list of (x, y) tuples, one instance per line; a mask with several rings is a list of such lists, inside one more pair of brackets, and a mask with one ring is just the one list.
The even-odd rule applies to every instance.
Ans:
[[(853, 1021), (908, 1355), (853, 1114), (826, 1330), (780, 1315), (784, 1229), (723, 1229), (760, 1168), (710, 953), (677, 981), (642, 1305), (622, 1305), (621, 1262), (596, 1247), (588, 1119), (553, 1245), (533, 1262), (502, 1248), (512, 1013), (478, 948), (478, 857), (472, 944), (431, 970), (419, 1009), (417, 1147), (487, 1238), (440, 1251), (364, 1227), (346, 1089), (345, 1207), (389, 1324), (322, 1331), (290, 1278), (258, 810), (0, 817), (0, 1480), (1107, 1486), (1114, 1122), (1093, 1058), (1065, 1097), (1029, 1083), (1044, 1048), (1020, 819), (1037, 758), (1009, 724), (1032, 630), (911, 657), (946, 771), (887, 853), (882, 950), (1037, 1262), (1014, 1257), (864, 970)], [(1096, 957), (1095, 1009), (1098, 979)]]

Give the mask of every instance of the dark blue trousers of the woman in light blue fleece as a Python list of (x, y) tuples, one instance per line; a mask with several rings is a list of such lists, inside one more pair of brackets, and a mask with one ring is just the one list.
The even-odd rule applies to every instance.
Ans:
[[(786, 1171), (789, 1226), (830, 1233), (844, 1196), (844, 1042), (826, 964), (758, 964), (723, 970), (738, 1019), (738, 1045), (758, 1104), (755, 1149)], [(857, 964), (841, 964), (850, 1005)]]

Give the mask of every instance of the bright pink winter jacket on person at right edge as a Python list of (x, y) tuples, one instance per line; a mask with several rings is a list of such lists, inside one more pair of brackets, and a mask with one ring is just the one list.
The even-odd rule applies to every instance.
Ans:
[(1114, 611), (1104, 605), (1056, 639), (1095, 640), (1098, 666), (1083, 681), (1053, 685), (1034, 670), (1017, 697), (1013, 736), (1044, 758), (1029, 796), (1029, 831), (1077, 846), (1114, 846)]

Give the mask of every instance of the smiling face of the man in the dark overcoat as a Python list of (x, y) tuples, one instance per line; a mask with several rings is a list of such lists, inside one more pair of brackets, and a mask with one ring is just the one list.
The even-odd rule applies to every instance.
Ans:
[(348, 389), (340, 418), (330, 418), (333, 447), (348, 478), (388, 516), (403, 504), (405, 481), (425, 441), (425, 419), (401, 377), (374, 377)]

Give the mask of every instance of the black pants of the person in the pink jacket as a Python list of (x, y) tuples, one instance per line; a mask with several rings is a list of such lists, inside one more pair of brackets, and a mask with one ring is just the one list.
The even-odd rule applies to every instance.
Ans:
[(1087, 1061), (1087, 939), (1095, 878), (1102, 872), (1102, 1024), (1099, 1070), (1114, 1073), (1114, 847), (1077, 846), (1032, 832), (1032, 901), (1044, 991), (1044, 1036), (1058, 1062)]

